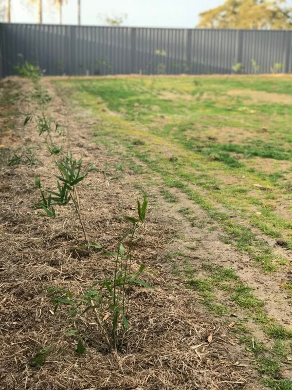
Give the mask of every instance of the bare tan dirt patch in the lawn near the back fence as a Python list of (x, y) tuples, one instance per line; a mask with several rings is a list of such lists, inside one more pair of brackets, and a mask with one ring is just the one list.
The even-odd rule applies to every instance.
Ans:
[(232, 89), (227, 92), (231, 96), (252, 100), (256, 103), (265, 101), (267, 103), (292, 104), (292, 96), (288, 94), (277, 94), (274, 92), (254, 91), (251, 89)]

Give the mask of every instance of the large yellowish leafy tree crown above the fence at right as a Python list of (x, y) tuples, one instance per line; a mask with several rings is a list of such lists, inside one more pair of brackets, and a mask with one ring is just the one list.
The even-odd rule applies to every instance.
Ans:
[(292, 7), (285, 0), (225, 0), (199, 16), (199, 27), (292, 29)]

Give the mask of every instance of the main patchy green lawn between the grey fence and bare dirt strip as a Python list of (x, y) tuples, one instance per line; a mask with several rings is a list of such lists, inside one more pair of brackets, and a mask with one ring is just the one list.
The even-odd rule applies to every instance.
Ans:
[[(292, 249), (290, 78), (101, 78), (58, 84), (98, 114), (97, 136), (121, 143), (159, 173), (165, 187), (199, 203), (264, 271), (281, 265), (282, 258), (263, 256), (266, 248), (260, 246), (263, 237), (271, 237)], [(242, 226), (233, 222), (235, 216), (245, 222), (246, 237), (237, 237)]]

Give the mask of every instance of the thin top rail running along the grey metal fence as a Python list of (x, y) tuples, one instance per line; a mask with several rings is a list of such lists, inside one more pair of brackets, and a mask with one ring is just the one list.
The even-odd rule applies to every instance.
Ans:
[(16, 22), (0, 22), (0, 25), (20, 25), (20, 26), (55, 26), (55, 27), (95, 27), (95, 28), (131, 28), (131, 29), (151, 29), (151, 30), (190, 30), (190, 31), (257, 31), (265, 33), (276, 33), (276, 32), (290, 32), (292, 30), (275, 30), (275, 29), (248, 29), (248, 28), (205, 28), (205, 27), (145, 27), (145, 26), (108, 26), (108, 25), (94, 25), (94, 24), (57, 24), (57, 23), (16, 23)]

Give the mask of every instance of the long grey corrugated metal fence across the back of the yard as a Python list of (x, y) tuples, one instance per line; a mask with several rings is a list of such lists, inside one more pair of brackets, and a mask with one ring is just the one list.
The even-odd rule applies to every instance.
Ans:
[[(46, 75), (292, 73), (292, 31), (0, 24), (0, 76), (23, 59)], [(22, 55), (22, 59), (19, 55)]]

